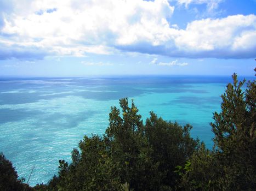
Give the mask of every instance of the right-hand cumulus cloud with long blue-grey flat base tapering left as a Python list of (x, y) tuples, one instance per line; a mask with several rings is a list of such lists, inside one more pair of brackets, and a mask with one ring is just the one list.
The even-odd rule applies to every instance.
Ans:
[(187, 58), (251, 58), (255, 56), (256, 16), (234, 15), (202, 19), (185, 29), (169, 28), (158, 45), (136, 42), (120, 49)]

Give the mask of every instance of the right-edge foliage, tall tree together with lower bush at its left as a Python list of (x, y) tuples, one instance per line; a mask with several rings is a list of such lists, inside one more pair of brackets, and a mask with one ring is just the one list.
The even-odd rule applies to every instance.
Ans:
[(211, 123), (215, 148), (204, 145), (189, 160), (189, 170), (178, 167), (181, 190), (255, 190), (256, 130), (255, 80), (238, 82), (232, 75), (221, 96), (221, 111), (215, 112)]

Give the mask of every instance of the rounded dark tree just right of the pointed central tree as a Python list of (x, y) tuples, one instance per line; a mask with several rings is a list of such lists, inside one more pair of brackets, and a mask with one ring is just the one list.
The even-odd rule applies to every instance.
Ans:
[[(184, 165), (186, 160), (195, 151), (198, 140), (191, 138), (189, 132), (192, 128), (189, 124), (181, 127), (177, 122), (171, 123), (158, 118), (153, 112), (147, 119), (145, 135), (152, 147), (151, 158), (158, 164), (156, 177), (158, 184), (170, 188), (175, 186), (178, 178), (174, 172), (177, 165)], [(154, 188), (157, 190), (157, 187)]]

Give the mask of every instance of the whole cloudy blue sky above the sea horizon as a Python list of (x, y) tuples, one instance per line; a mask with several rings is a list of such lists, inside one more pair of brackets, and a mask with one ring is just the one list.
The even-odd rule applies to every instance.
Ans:
[(0, 0), (0, 77), (253, 76), (256, 0)]

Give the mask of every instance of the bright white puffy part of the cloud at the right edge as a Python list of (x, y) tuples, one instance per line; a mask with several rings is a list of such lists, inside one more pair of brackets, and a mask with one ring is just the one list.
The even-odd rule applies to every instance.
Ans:
[(256, 48), (255, 15), (234, 15), (223, 19), (203, 19), (189, 23), (175, 38), (175, 44), (191, 56), (232, 57), (243, 50), (253, 55)]

